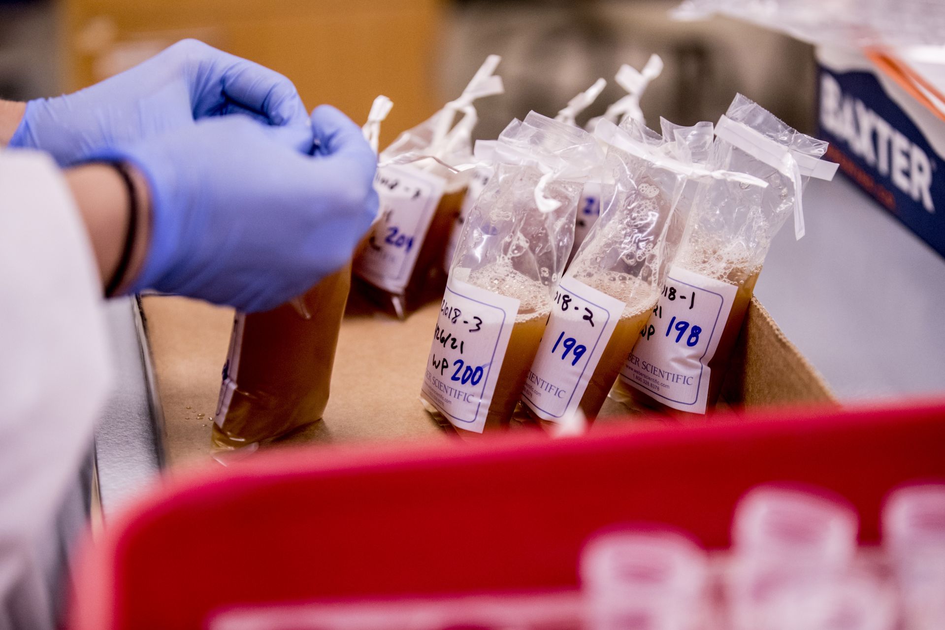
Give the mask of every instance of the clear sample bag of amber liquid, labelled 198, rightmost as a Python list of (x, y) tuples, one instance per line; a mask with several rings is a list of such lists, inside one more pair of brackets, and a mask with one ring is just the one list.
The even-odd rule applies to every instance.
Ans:
[(660, 302), (614, 389), (618, 399), (695, 413), (713, 407), (771, 239), (792, 214), (803, 236), (803, 184), (836, 171), (819, 160), (827, 143), (745, 96), (735, 97), (715, 133), (713, 166), (768, 185), (698, 186)]

